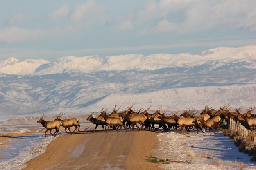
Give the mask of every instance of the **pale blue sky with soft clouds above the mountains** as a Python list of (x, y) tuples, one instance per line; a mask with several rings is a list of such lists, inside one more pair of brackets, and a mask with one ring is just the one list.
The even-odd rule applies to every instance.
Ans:
[(255, 0), (8, 0), (0, 59), (191, 53), (256, 44)]

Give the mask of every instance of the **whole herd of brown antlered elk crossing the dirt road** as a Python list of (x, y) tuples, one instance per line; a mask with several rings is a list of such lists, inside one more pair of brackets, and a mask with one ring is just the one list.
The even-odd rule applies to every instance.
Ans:
[[(178, 110), (177, 112), (174, 112), (172, 116), (168, 116), (165, 115), (168, 110), (163, 110), (161, 113), (162, 107), (159, 107), (158, 110), (150, 114), (149, 110), (152, 105), (150, 105), (146, 109), (140, 107), (138, 110), (133, 110), (132, 108), (134, 107), (134, 105), (135, 103), (132, 103), (131, 106), (127, 106), (120, 112), (118, 112), (118, 110), (120, 110), (122, 105), (120, 105), (118, 108), (116, 108), (117, 105), (115, 105), (115, 107), (113, 108), (113, 112), (109, 114), (107, 114), (106, 108), (102, 108), (99, 116), (93, 117), (94, 112), (92, 112), (86, 120), (95, 124), (93, 133), (100, 125), (103, 128), (104, 132), (108, 132), (109, 128), (112, 128), (117, 132), (120, 132), (121, 129), (124, 128), (125, 132), (127, 132), (127, 129), (134, 130), (134, 127), (136, 127), (138, 131), (153, 131), (162, 128), (164, 132), (167, 132), (171, 128), (174, 131), (177, 131), (177, 128), (179, 127), (181, 127), (182, 131), (185, 127), (186, 131), (188, 132), (196, 128), (197, 134), (199, 130), (202, 133), (205, 133), (208, 128), (211, 134), (211, 132), (215, 133), (214, 128), (220, 125), (221, 119), (225, 119), (228, 122), (230, 118), (234, 119), (235, 121), (239, 121), (247, 129), (253, 128), (255, 130), (256, 126), (256, 117), (254, 117), (254, 114), (251, 113), (255, 109), (255, 107), (247, 108), (242, 114), (240, 113), (242, 106), (238, 109), (235, 109), (235, 112), (231, 112), (231, 107), (229, 105), (224, 105), (223, 107), (220, 107), (219, 110), (212, 109), (211, 107), (209, 108), (208, 105), (206, 105), (204, 110), (202, 110), (202, 112), (199, 114), (197, 114), (194, 107), (186, 108), (181, 113), (180, 110)], [(60, 126), (63, 126), (68, 134), (72, 134), (70, 130), (70, 127), (72, 126), (75, 127), (75, 130), (77, 130), (78, 128), (78, 131), (80, 132), (80, 125), (78, 124), (78, 119), (61, 119), (62, 115), (63, 112), (60, 113), (57, 118), (54, 119), (54, 121), (43, 120), (44, 115), (40, 117), (39, 121), (37, 122), (41, 123), (43, 127), (46, 128), (45, 137), (48, 130), (50, 131), (50, 134), (52, 134), (52, 129), (55, 129), (55, 132), (52, 134), (55, 137), (59, 132)], [(155, 125), (157, 125), (157, 127), (155, 127)], [(202, 128), (205, 128), (205, 130), (203, 131)], [(69, 132), (67, 131), (67, 129)], [(75, 130), (73, 132), (75, 132)]]

